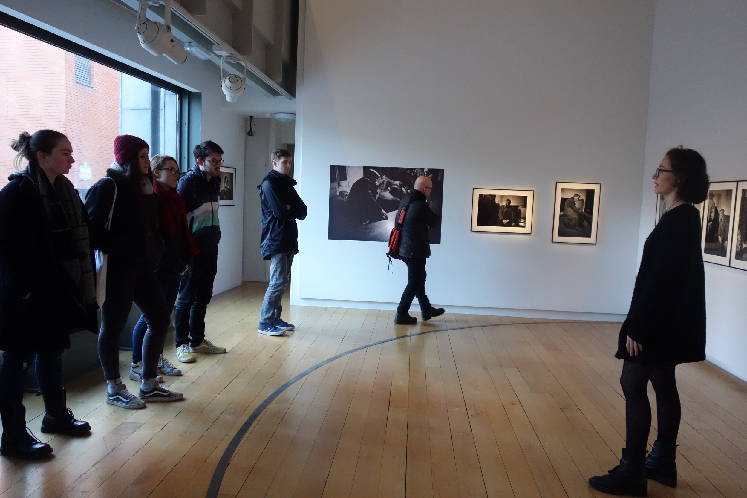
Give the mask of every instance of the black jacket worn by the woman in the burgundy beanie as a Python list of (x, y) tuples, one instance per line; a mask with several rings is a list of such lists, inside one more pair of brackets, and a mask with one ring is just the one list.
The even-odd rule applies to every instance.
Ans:
[[(114, 183), (117, 184), (116, 202)], [(155, 193), (143, 196), (137, 188), (115, 169), (107, 169), (106, 176), (90, 187), (85, 205), (90, 220), (91, 249), (108, 254), (109, 264), (152, 268), (164, 250), (164, 241), (158, 233), (159, 201)], [(112, 202), (114, 213), (111, 229), (107, 230)]]

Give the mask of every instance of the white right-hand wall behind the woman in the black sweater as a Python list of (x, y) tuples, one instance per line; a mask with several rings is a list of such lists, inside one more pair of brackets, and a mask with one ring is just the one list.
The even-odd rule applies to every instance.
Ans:
[[(747, 2), (657, 0), (640, 245), (654, 227), (651, 174), (678, 145), (712, 181), (747, 180)], [(747, 380), (747, 272), (705, 264), (708, 359)]]

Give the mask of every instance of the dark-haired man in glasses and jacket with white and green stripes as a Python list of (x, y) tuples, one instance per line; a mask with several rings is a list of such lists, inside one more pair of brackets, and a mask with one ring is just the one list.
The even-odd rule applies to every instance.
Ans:
[(223, 164), (223, 149), (208, 140), (194, 146), (193, 154), (197, 164), (182, 175), (176, 185), (187, 209), (188, 228), (199, 248), (192, 272), (179, 284), (179, 299), (174, 312), (176, 359), (182, 363), (195, 361), (193, 352), (226, 352), (226, 348), (205, 339), (205, 311), (213, 297), (213, 281), (218, 268), (218, 173)]

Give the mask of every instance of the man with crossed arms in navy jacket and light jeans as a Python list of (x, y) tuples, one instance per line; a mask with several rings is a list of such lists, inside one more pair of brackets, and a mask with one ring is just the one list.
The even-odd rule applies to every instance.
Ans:
[(306, 204), (298, 196), (297, 184), (288, 176), (291, 172), (291, 153), (285, 149), (273, 152), (273, 169), (258, 185), (262, 207), (262, 234), (259, 247), (262, 259), (270, 260), (270, 284), (264, 294), (257, 332), (280, 335), (295, 329), (280, 318), (282, 294), (289, 283), (291, 263), (298, 254), (298, 225), (304, 220)]

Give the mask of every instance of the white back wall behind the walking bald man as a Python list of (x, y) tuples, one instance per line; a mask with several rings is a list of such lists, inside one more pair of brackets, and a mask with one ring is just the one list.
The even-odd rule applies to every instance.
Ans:
[[(652, 0), (308, 0), (294, 304), (394, 308), (385, 243), (327, 240), (329, 165), (443, 168), (427, 290), (449, 311), (619, 319), (636, 270)], [(595, 246), (551, 243), (556, 181), (602, 184)], [(474, 187), (533, 234), (470, 231)]]

